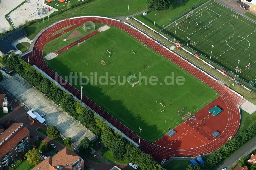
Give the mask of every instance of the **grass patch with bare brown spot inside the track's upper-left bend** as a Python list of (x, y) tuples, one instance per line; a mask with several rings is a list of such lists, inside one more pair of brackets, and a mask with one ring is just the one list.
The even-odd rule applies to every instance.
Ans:
[[(103, 24), (96, 23), (95, 25), (96, 25), (96, 29), (98, 29)], [(92, 28), (92, 27), (90, 27), (90, 28), (91, 29), (89, 29), (88, 32), (86, 32), (83, 30), (83, 25), (81, 25), (81, 26), (67, 32), (66, 34), (61, 35), (60, 37), (58, 37), (56, 39), (51, 40), (44, 46), (43, 55), (46, 56), (46, 53), (48, 53), (48, 52), (53, 53), (55, 51), (58, 51), (59, 49), (71, 44), (72, 42), (74, 42), (76, 40), (79, 40), (80, 38), (92, 33), (93, 31), (95, 31), (94, 28)], [(66, 39), (74, 31), (79, 31), (82, 34), (82, 36), (63, 41), (63, 39)]]

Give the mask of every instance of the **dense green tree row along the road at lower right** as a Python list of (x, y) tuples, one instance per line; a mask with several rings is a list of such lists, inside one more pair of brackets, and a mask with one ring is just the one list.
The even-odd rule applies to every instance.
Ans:
[(187, 170), (214, 169), (217, 164), (224, 161), (233, 154), (239, 147), (256, 136), (256, 124), (241, 131), (235, 138), (223, 145), (217, 151), (211, 153), (203, 165), (189, 165)]

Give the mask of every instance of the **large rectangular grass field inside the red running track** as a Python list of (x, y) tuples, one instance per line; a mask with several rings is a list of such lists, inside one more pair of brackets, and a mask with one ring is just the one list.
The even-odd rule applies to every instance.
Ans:
[[(106, 50), (113, 51), (110, 57), (105, 55)], [(101, 60), (106, 62), (106, 67), (101, 64)], [(135, 133), (138, 134), (138, 127), (141, 127), (141, 137), (150, 142), (155, 142), (167, 133), (169, 127), (174, 128), (180, 124), (184, 114), (189, 111), (196, 113), (219, 96), (214, 89), (170, 60), (141, 45), (126, 32), (113, 27), (93, 36), (79, 47), (74, 46), (59, 54), (47, 64), (60, 76), (68, 76), (70, 72), (81, 72), (82, 76), (88, 76), (88, 84), (83, 85), (83, 94)], [(147, 67), (143, 68), (143, 65)], [(139, 73), (147, 80), (142, 78), (141, 84), (132, 87), (126, 80), (134, 73), (137, 78), (131, 80), (131, 83), (140, 80)], [(172, 73), (174, 78), (183, 76), (184, 84), (166, 85), (164, 79)], [(108, 83), (100, 85), (100, 76), (106, 74)], [(120, 76), (120, 82), (125, 84), (113, 83), (110, 76), (115, 76), (115, 81)], [(149, 84), (150, 76), (158, 78), (156, 85)], [(170, 79), (167, 81), (170, 82)], [(75, 83), (72, 79), (71, 82), (81, 90), (79, 81)], [(85, 78), (83, 82), (86, 82)], [(165, 107), (160, 105), (160, 101)], [(178, 115), (181, 108), (185, 108), (185, 112)]]

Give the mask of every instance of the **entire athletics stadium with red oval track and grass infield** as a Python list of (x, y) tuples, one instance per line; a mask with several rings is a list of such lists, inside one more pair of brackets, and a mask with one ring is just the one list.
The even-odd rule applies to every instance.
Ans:
[[(58, 41), (62, 44), (58, 51), (45, 58), (47, 43), (73, 29), (88, 27), (86, 22), (90, 23), (87, 35), (70, 44)], [(101, 29), (106, 25), (108, 29)], [(23, 58), (28, 59), (27, 55)], [(172, 156), (212, 152), (231, 140), (240, 124), (242, 98), (119, 20), (84, 16), (59, 21), (38, 36), (29, 61), (159, 163)], [(90, 79), (96, 72), (98, 77), (106, 73), (120, 77), (123, 84), (104, 80), (106, 84), (101, 85)], [(81, 86), (70, 73), (88, 79), (82, 79)], [(150, 77), (155, 80), (153, 85), (146, 84)], [(166, 77), (169, 81), (163, 83)]]

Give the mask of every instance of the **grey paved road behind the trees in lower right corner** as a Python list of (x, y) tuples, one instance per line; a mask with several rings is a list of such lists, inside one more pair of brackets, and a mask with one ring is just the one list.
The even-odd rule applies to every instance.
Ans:
[(233, 166), (237, 164), (237, 161), (239, 160), (240, 157), (242, 157), (243, 155), (248, 155), (250, 152), (256, 149), (255, 142), (256, 142), (256, 137), (253, 138), (251, 141), (249, 141), (242, 148), (237, 150), (228, 159), (222, 162), (216, 169), (221, 170), (223, 167), (228, 167), (228, 169), (231, 169)]

